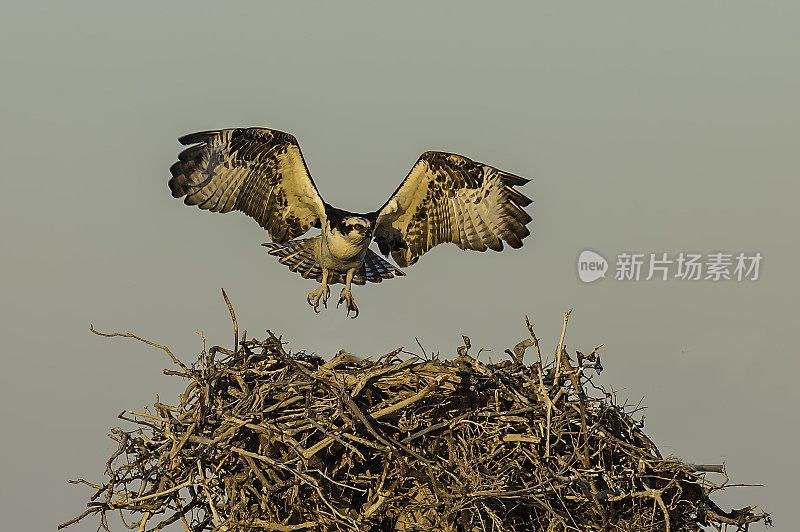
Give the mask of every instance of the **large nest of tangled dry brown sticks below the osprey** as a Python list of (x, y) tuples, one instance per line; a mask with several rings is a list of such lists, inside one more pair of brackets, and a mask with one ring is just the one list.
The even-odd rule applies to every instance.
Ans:
[[(529, 338), (489, 363), (402, 350), (377, 361), (289, 352), (272, 333), (204, 348), (175, 406), (126, 411), (130, 430), (94, 484), (87, 516), (108, 528), (202, 530), (702, 530), (770, 524), (709, 495), (722, 466), (663, 458), (591, 379), (597, 349), (545, 361)], [(565, 314), (564, 327), (569, 313)], [(527, 320), (526, 320), (527, 321)], [(103, 333), (98, 333), (103, 334)], [(523, 357), (533, 363), (526, 365)], [(455, 353), (454, 353), (455, 355)], [(721, 474), (717, 484), (708, 473)], [(181, 525), (176, 524), (180, 527)]]

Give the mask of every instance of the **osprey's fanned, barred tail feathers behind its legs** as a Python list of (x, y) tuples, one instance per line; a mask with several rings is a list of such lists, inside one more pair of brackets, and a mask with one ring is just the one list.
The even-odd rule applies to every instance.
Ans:
[[(288, 266), (290, 271), (299, 273), (305, 279), (316, 279), (317, 282), (322, 282), (322, 266), (318, 261), (321, 238), (321, 236), (315, 236), (290, 240), (285, 244), (267, 242), (262, 245), (269, 248), (269, 254), (278, 257), (278, 262)], [(364, 263), (353, 276), (353, 283), (380, 283), (384, 279), (391, 279), (396, 275), (402, 276), (405, 273), (368, 249)], [(328, 284), (344, 283), (344, 281), (344, 273), (330, 271)]]

